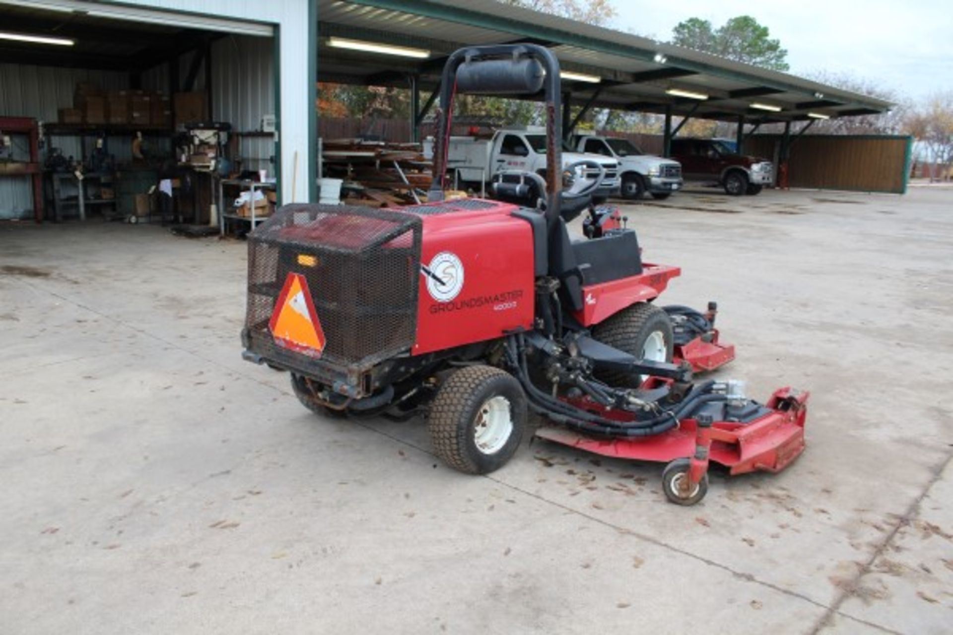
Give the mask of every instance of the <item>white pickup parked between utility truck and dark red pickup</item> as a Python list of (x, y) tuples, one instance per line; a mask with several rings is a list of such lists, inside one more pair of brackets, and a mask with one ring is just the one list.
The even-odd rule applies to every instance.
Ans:
[(601, 154), (618, 161), (622, 198), (639, 199), (649, 192), (661, 200), (682, 187), (678, 161), (643, 154), (628, 139), (583, 134), (573, 137), (572, 146), (580, 152)]

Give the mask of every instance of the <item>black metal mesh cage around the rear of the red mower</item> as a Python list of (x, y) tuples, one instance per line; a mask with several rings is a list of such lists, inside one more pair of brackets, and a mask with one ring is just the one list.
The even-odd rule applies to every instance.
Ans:
[(246, 327), (266, 359), (310, 358), (278, 347), (269, 321), (289, 273), (302, 274), (327, 344), (322, 359), (366, 369), (416, 336), (422, 223), (384, 209), (289, 205), (249, 237)]

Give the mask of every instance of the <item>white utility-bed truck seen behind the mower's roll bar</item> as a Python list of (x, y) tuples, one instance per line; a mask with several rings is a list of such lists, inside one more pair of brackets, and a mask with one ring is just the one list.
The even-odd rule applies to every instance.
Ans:
[[(562, 167), (578, 161), (596, 161), (605, 168), (602, 185), (594, 192), (595, 199), (618, 195), (621, 182), (618, 178), (618, 161), (603, 154), (585, 154), (564, 151)], [(464, 183), (490, 183), (500, 170), (546, 172), (545, 129), (497, 130), (492, 139), (474, 137), (451, 137), (447, 149), (447, 168), (456, 170), (459, 181)], [(598, 170), (585, 169), (583, 176), (594, 177)]]

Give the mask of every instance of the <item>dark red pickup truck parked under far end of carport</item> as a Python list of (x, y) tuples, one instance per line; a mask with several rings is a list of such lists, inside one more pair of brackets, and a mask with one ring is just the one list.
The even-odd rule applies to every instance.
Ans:
[(774, 181), (770, 161), (736, 154), (716, 139), (673, 139), (671, 154), (686, 181), (717, 183), (732, 196), (757, 194)]

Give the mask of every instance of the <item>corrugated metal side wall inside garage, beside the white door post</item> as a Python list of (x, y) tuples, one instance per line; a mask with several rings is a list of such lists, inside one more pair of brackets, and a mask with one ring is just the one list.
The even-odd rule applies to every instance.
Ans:
[[(229, 35), (212, 45), (212, 115), (236, 132), (261, 129), (261, 117), (275, 114), (274, 43), (270, 39)], [(270, 136), (239, 136), (244, 169), (274, 174)]]

